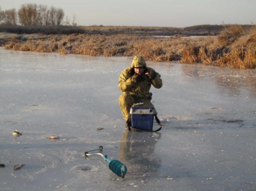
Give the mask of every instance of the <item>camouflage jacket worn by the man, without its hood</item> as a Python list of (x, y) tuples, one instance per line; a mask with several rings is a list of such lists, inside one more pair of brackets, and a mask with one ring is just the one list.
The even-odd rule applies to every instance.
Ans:
[[(145, 70), (144, 73), (150, 70), (155, 71), (153, 68), (149, 67)], [(119, 90), (132, 94), (135, 98), (151, 100), (152, 93), (149, 92), (151, 84), (157, 89), (160, 89), (163, 85), (162, 79), (160, 78), (161, 76), (157, 72), (156, 77), (152, 80), (143, 74), (140, 82), (136, 82), (136, 77), (137, 75), (134, 72), (134, 68), (129, 67), (124, 69), (119, 77)]]

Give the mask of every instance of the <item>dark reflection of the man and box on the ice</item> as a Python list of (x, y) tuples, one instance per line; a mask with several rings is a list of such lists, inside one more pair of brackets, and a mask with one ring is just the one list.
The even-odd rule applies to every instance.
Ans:
[[(120, 145), (120, 160), (129, 166), (133, 178), (153, 178), (161, 167), (161, 158), (154, 151), (161, 133), (125, 131)], [(142, 179), (141, 179), (142, 178)]]

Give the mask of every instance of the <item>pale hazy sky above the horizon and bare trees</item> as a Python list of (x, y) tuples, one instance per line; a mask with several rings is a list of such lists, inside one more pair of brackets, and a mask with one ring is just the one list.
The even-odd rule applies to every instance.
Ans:
[(61, 8), (82, 26), (256, 24), (256, 0), (0, 0), (2, 11), (25, 3)]

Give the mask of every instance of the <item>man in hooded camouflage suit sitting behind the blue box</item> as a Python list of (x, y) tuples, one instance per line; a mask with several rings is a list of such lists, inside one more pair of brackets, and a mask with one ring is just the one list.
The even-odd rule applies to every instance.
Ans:
[(147, 67), (142, 56), (135, 56), (132, 65), (122, 71), (119, 77), (119, 89), (123, 94), (119, 97), (120, 108), (127, 126), (130, 127), (130, 108), (133, 104), (143, 103), (143, 106), (154, 107), (151, 103), (151, 84), (160, 89), (162, 79), (153, 68)]

